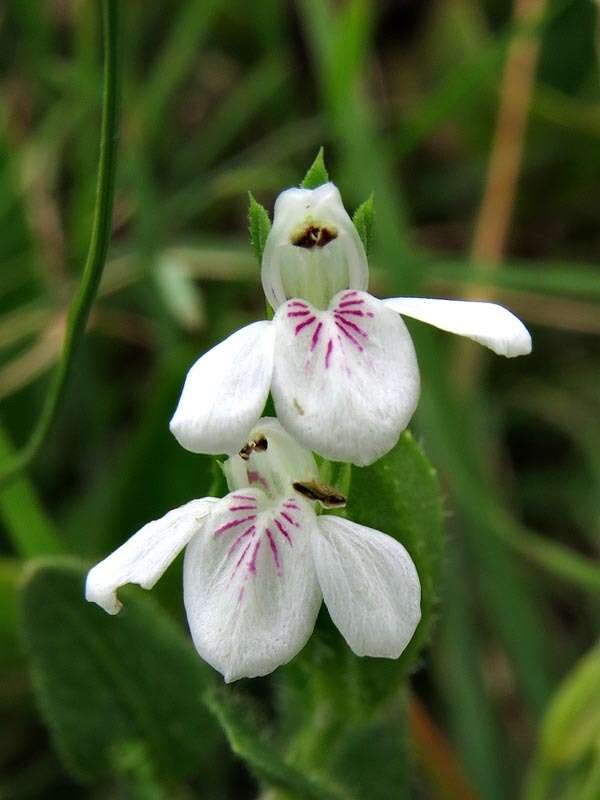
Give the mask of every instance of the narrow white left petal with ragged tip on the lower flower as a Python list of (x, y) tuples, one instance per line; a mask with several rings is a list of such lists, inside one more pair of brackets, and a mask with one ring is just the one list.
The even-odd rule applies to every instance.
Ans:
[(137, 583), (151, 589), (178, 553), (202, 528), (217, 498), (192, 500), (149, 522), (89, 572), (86, 600), (97, 603), (109, 614), (117, 614), (121, 603), (117, 589)]

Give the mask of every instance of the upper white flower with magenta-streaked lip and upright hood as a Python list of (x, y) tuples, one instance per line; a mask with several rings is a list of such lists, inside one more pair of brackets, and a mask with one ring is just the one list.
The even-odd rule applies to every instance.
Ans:
[(262, 260), (271, 322), (232, 334), (190, 369), (171, 430), (193, 452), (235, 453), (269, 390), (284, 428), (334, 461), (370, 464), (398, 441), (419, 399), (417, 358), (400, 315), (526, 355), (523, 323), (495, 303), (367, 293), (358, 231), (333, 183), (287, 189)]

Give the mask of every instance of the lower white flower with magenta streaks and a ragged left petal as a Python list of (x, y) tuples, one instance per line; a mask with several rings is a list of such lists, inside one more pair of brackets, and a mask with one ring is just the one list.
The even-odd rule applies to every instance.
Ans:
[(230, 493), (192, 500), (150, 522), (90, 570), (86, 598), (109, 614), (117, 589), (151, 589), (186, 548), (183, 593), (198, 653), (226, 681), (266, 675), (310, 637), (321, 601), (359, 656), (397, 658), (420, 612), (415, 566), (400, 542), (331, 514), (315, 499), (312, 454), (277, 420), (259, 420), (225, 462)]

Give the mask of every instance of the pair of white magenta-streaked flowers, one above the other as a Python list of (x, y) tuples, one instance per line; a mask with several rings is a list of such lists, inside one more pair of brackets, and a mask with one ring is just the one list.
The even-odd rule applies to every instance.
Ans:
[[(418, 403), (402, 315), (505, 356), (529, 353), (507, 309), (368, 294), (365, 250), (337, 188), (277, 199), (262, 260), (271, 321), (232, 334), (190, 369), (171, 420), (196, 453), (226, 454), (230, 493), (150, 522), (89, 573), (111, 614), (117, 589), (150, 589), (186, 549), (184, 600), (199, 654), (231, 681), (265, 675), (304, 646), (324, 600), (352, 650), (397, 658), (420, 619), (420, 584), (395, 539), (333, 514), (311, 451), (357, 465), (387, 453)], [(277, 419), (262, 418), (271, 392)]]

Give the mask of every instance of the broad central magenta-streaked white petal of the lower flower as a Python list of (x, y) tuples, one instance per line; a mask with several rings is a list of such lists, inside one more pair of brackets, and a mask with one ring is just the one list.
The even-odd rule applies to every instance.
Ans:
[(232, 492), (189, 544), (184, 599), (196, 649), (226, 681), (266, 675), (304, 647), (321, 603), (310, 536), (315, 515), (290, 496), (269, 510)]

